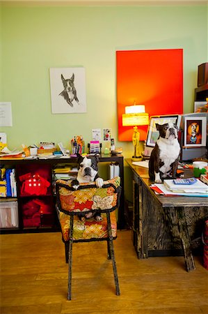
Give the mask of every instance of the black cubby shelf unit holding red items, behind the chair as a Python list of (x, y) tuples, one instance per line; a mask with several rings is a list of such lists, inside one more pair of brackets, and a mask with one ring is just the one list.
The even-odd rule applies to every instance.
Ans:
[[(120, 165), (122, 195), (118, 211), (118, 227), (123, 229), (125, 227), (123, 156), (102, 155), (99, 157), (99, 162), (116, 162)], [(60, 165), (76, 167), (78, 158), (1, 159), (0, 163), (1, 167), (15, 169), (17, 181), (17, 197), (0, 197), (0, 217), (3, 211), (7, 216), (6, 219), (11, 219), (10, 216), (14, 216), (16, 213), (15, 225), (12, 223), (1, 224), (1, 233), (56, 232), (60, 230), (56, 214), (54, 169)], [(39, 188), (35, 184), (40, 184)], [(2, 208), (6, 209), (1, 210)]]

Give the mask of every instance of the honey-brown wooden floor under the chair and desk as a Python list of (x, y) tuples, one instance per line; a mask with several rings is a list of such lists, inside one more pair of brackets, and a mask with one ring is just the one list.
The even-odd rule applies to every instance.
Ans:
[(1, 234), (1, 314), (198, 314), (208, 313), (208, 271), (195, 257), (138, 260), (131, 232), (114, 241), (121, 295), (115, 295), (106, 242), (74, 244), (72, 301), (61, 234)]

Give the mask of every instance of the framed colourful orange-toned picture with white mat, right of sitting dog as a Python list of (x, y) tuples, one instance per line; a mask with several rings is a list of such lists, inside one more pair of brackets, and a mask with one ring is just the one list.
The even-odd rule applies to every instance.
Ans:
[(184, 118), (184, 147), (206, 146), (206, 117)]

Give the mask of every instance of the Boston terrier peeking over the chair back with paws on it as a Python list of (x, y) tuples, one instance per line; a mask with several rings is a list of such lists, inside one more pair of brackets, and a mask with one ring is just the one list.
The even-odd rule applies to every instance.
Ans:
[[(87, 183), (95, 181), (97, 188), (102, 188), (104, 180), (98, 176), (97, 167), (98, 158), (96, 156), (82, 157), (79, 155), (78, 159), (78, 174), (77, 179), (72, 180), (71, 186), (76, 189), (79, 187), (80, 183)], [(93, 214), (92, 212), (85, 214), (85, 218), (95, 217), (95, 220), (101, 221), (102, 217), (99, 214)], [(79, 216), (83, 220), (83, 216)]]

